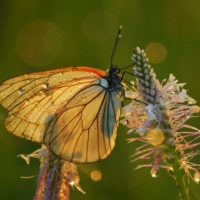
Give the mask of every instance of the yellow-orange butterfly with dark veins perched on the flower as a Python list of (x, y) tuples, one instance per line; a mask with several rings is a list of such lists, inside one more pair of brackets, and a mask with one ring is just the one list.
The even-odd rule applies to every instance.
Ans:
[[(118, 34), (119, 35), (119, 34)], [(90, 163), (115, 146), (125, 86), (120, 69), (85, 66), (24, 74), (0, 85), (6, 129), (60, 158)]]

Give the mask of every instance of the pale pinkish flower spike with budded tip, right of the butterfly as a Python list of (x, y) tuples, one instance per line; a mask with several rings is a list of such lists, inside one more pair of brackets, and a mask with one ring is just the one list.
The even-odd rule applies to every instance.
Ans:
[(143, 50), (138, 47), (133, 50), (132, 61), (136, 83), (132, 83), (133, 89), (126, 92), (133, 101), (123, 108), (122, 123), (130, 128), (128, 133), (136, 133), (129, 142), (143, 142), (136, 149), (134, 160), (151, 160), (137, 169), (151, 167), (153, 177), (158, 176), (160, 168), (166, 168), (174, 177), (178, 176), (178, 171), (183, 171), (182, 174), (199, 183), (200, 165), (190, 161), (200, 154), (198, 150), (192, 150), (200, 145), (200, 130), (186, 122), (195, 117), (200, 107), (183, 89), (185, 84), (178, 83), (172, 74), (160, 83)]

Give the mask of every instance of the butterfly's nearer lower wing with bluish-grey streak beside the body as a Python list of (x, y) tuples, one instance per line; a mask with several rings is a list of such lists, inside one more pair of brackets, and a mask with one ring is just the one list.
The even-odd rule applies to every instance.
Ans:
[(44, 143), (59, 157), (88, 163), (106, 158), (115, 145), (120, 91), (109, 91), (105, 79), (85, 86), (49, 122)]

